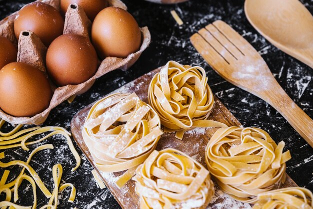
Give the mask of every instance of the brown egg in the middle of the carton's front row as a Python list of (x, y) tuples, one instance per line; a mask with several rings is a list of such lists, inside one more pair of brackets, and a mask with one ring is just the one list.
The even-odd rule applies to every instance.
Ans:
[(97, 70), (96, 52), (88, 39), (77, 34), (56, 38), (46, 53), (46, 68), (58, 86), (80, 84)]

